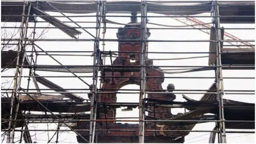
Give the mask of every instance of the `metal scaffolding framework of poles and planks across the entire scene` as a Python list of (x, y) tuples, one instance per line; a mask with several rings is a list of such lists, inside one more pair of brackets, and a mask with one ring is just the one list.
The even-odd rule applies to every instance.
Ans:
[[(178, 3), (182, 3), (179, 5)], [(194, 4), (191, 4), (194, 3)], [(15, 132), (21, 132), (20, 140), (22, 137), (26, 143), (32, 143), (29, 131), (54, 131), (58, 134), (61, 131), (73, 131), (79, 139), (83, 142), (97, 143), (98, 132), (110, 132), (110, 131), (126, 131), (126, 132), (138, 132), (139, 143), (145, 143), (145, 133), (147, 132), (173, 132), (186, 133), (180, 137), (172, 137), (173, 140), (169, 142), (184, 142), (184, 137), (189, 132), (210, 132), (209, 142), (214, 143), (215, 135), (218, 134), (219, 143), (227, 143), (226, 133), (254, 133), (254, 131), (227, 131), (227, 127), (234, 127), (239, 123), (247, 125), (247, 127), (239, 127), (237, 129), (255, 129), (254, 118), (248, 117), (241, 118), (240, 120), (226, 120), (225, 110), (233, 110), (241, 108), (242, 111), (253, 111), (254, 103), (237, 102), (232, 100), (223, 99), (224, 94), (244, 94), (254, 95), (254, 90), (225, 90), (223, 89), (223, 79), (254, 79), (255, 77), (223, 77), (222, 70), (227, 69), (242, 69), (242, 70), (254, 70), (254, 39), (242, 40), (231, 34), (223, 32), (226, 28), (221, 27), (221, 23), (254, 23), (254, 2), (232, 2), (232, 1), (127, 1), (127, 2), (114, 2), (114, 1), (2, 1), (2, 23), (8, 22), (21, 22), (20, 27), (2, 26), (3, 29), (19, 29), (19, 37), (2, 37), (1, 45), (3, 46), (17, 46), (16, 51), (6, 51), (2, 49), (2, 73), (6, 69), (15, 69), (13, 76), (2, 76), (3, 78), (14, 78), (13, 88), (2, 87), (2, 137), (6, 134), (6, 142), (14, 143)], [(13, 7), (10, 9), (10, 7)], [(21, 8), (22, 7), (22, 8)], [(253, 10), (252, 10), (253, 9)], [(20, 13), (21, 12), (21, 13)], [(59, 12), (61, 15), (50, 15), (46, 12)], [(69, 15), (67, 13), (73, 13), (75, 15)], [(83, 14), (90, 15), (83, 15)], [(95, 13), (95, 15), (93, 14)], [(116, 15), (113, 15), (116, 14)], [(117, 14), (123, 15), (117, 15)], [(132, 13), (131, 15), (125, 15)], [(161, 14), (158, 16), (148, 15), (148, 13)], [(210, 16), (196, 15), (202, 13), (210, 13)], [(236, 15), (234, 15), (234, 13)], [(21, 14), (21, 15), (20, 15)], [(107, 15), (110, 14), (110, 15)], [(140, 14), (140, 15), (137, 15)], [(38, 21), (37, 18), (43, 19)], [(96, 21), (75, 21), (73, 18), (86, 18), (95, 17)], [(108, 17), (132, 17), (140, 18), (140, 22), (122, 23), (108, 20)], [(67, 18), (69, 21), (61, 21), (57, 18)], [(131, 19), (132, 19), (131, 18)], [(186, 24), (186, 26), (170, 26), (163, 25), (163, 23), (152, 23), (148, 21), (148, 18), (172, 18)], [(211, 18), (209, 23), (203, 23), (196, 18)], [(191, 22), (190, 24), (187, 21)], [(34, 26), (29, 26), (29, 23), (34, 23)], [(44, 29), (45, 27), (37, 26), (37, 23), (50, 23), (54, 27), (47, 27), (47, 29), (59, 29), (63, 33), (67, 34), (71, 38), (36, 38), (36, 30)], [(73, 23), (76, 26), (69, 26), (68, 23)], [(95, 27), (83, 27), (79, 23), (95, 23)], [(115, 25), (124, 25), (129, 27), (123, 27), (123, 29), (139, 29), (140, 37), (131, 39), (108, 39), (105, 38), (107, 29), (119, 29), (118, 27), (107, 27), (107, 23)], [(147, 25), (163, 26), (159, 28), (148, 28)], [(235, 24), (234, 24), (235, 25)], [(33, 30), (32, 36), (28, 36), (28, 30)], [(79, 31), (79, 30), (81, 31)], [(90, 33), (89, 29), (95, 29), (95, 34)], [(198, 29), (204, 33), (210, 34), (210, 40), (154, 40), (148, 39), (148, 29)], [(233, 30), (252, 30), (254, 28), (227, 28)], [(90, 38), (78, 38), (81, 33), (86, 33)], [(101, 35), (102, 34), (102, 35)], [(226, 37), (225, 37), (226, 36)], [(102, 38), (101, 38), (102, 37)], [(93, 42), (93, 51), (46, 51), (44, 47), (39, 46), (37, 42)], [(105, 51), (105, 42), (138, 42), (140, 43), (140, 51)], [(209, 52), (149, 52), (148, 43), (150, 42), (208, 42), (210, 43)], [(101, 44), (102, 43), (102, 44)], [(31, 47), (31, 51), (27, 49)], [(232, 48), (223, 48), (232, 47)], [(235, 47), (235, 48), (234, 48)], [(38, 51), (39, 50), (39, 51)], [(53, 53), (53, 54), (52, 54)], [(57, 53), (57, 54), (54, 54)], [(67, 53), (67, 54), (58, 54)], [(72, 54), (83, 53), (83, 54)], [(84, 54), (90, 53), (90, 54)], [(91, 54), (92, 53), (92, 54)], [(118, 53), (118, 56), (116, 56)], [(121, 53), (121, 54), (120, 54)], [(122, 53), (139, 54), (137, 58), (127, 57), (124, 58)], [(178, 59), (197, 59), (204, 57), (189, 57), (189, 58), (173, 58), (173, 59), (149, 59), (148, 54), (209, 54), (209, 66), (153, 66), (149, 65), (150, 60), (178, 60)], [(37, 58), (39, 55), (47, 55), (59, 65), (38, 65)], [(93, 57), (93, 65), (63, 65), (59, 60), (54, 58), (58, 56), (74, 56), (74, 57)], [(4, 56), (4, 58), (3, 58)], [(111, 65), (106, 65), (106, 58), (110, 58)], [(139, 65), (121, 66), (113, 63), (113, 58), (121, 57), (123, 59), (137, 59)], [(14, 64), (15, 63), (15, 64)], [(160, 69), (160, 68), (176, 68), (176, 69)], [(29, 74), (24, 75), (23, 69), (29, 69)], [(195, 71), (214, 70), (214, 77), (167, 77), (167, 76), (148, 76), (147, 70), (152, 69), (158, 71), (158, 73), (164, 74), (179, 74), (189, 73)], [(131, 73), (139, 73), (139, 76), (114, 76), (114, 73), (118, 71), (128, 71)], [(169, 71), (168, 71), (169, 70)], [(171, 70), (171, 71), (170, 71)], [(176, 71), (173, 71), (176, 70)], [(185, 70), (185, 71), (178, 71)], [(36, 71), (52, 71), (58, 75), (52, 76), (40, 76), (36, 74)], [(102, 75), (104, 71), (109, 72), (112, 76)], [(178, 72), (177, 72), (178, 71)], [(62, 73), (70, 73), (71, 76), (61, 75)], [(92, 73), (92, 76), (81, 76), (78, 74)], [(60, 75), (59, 75), (60, 74)], [(46, 78), (78, 78), (87, 87), (86, 89), (63, 89), (62, 87), (54, 84)], [(27, 89), (21, 86), (21, 80), (28, 78)], [(92, 78), (92, 83), (85, 81), (84, 78)], [(102, 79), (109, 78), (110, 83), (114, 82), (114, 78), (138, 78), (140, 86), (137, 92), (122, 92), (119, 89), (101, 89), (102, 84), (106, 83)], [(167, 78), (179, 78), (179, 79), (215, 79), (214, 84), (209, 90), (164, 90), (164, 89), (149, 89), (147, 86), (148, 79), (167, 79)], [(30, 81), (33, 80), (36, 89), (31, 89)], [(39, 88), (38, 83), (49, 87), (50, 89)], [(22, 87), (22, 88), (21, 88)], [(161, 86), (162, 87), (162, 86)], [(90, 92), (81, 92), (83, 90)], [(54, 92), (47, 92), (54, 91)], [(117, 92), (121, 91), (121, 92)], [(134, 91), (132, 89), (126, 89), (126, 91)], [(180, 91), (180, 92), (179, 92)], [(187, 91), (187, 92), (186, 92)], [(192, 91), (192, 92), (191, 92)], [(60, 95), (49, 95), (49, 94)], [(85, 93), (90, 95), (90, 99), (84, 99), (77, 93)], [(139, 94), (138, 103), (129, 102), (105, 102), (101, 101), (102, 94), (111, 93), (128, 93)], [(9, 97), (11, 94), (11, 97)], [(183, 95), (183, 98), (187, 102), (176, 102), (161, 99), (151, 99), (147, 95), (151, 94), (204, 94), (201, 101), (196, 101)], [(58, 98), (57, 98), (58, 97)], [(66, 99), (65, 99), (66, 98)], [(122, 119), (115, 117), (108, 117), (105, 113), (105, 118), (99, 116), (103, 110), (109, 108), (118, 107), (138, 107), (139, 117), (122, 117)], [(160, 108), (184, 108), (189, 110), (188, 113), (180, 116), (174, 116), (169, 119), (156, 118), (155, 107)], [(195, 110), (195, 108), (198, 108)], [(204, 114), (210, 113), (212, 109), (218, 109), (218, 114), (214, 114), (214, 118), (210, 120), (202, 119)], [(225, 109), (226, 108), (226, 109)], [(153, 109), (153, 110), (152, 110)], [(210, 110), (209, 110), (210, 109)], [(251, 110), (251, 111), (250, 111)], [(44, 111), (45, 115), (30, 114), (28, 111)], [(82, 112), (89, 112), (90, 114), (82, 114)], [(4, 116), (3, 116), (4, 112)], [(154, 117), (148, 118), (146, 112), (153, 114)], [(229, 111), (230, 112), (230, 111)], [(248, 113), (249, 113), (248, 112)], [(47, 114), (50, 113), (50, 114)], [(60, 113), (60, 114), (56, 114)], [(63, 114), (62, 114), (63, 113)], [(64, 114), (71, 113), (71, 114)], [(196, 113), (196, 114), (193, 114)], [(212, 113), (212, 112), (211, 112)], [(238, 113), (238, 112), (237, 112)], [(188, 116), (187, 116), (188, 115)], [(185, 119), (182, 116), (187, 116)], [(210, 116), (213, 117), (213, 116)], [(239, 116), (238, 116), (239, 117)], [(254, 116), (253, 116), (254, 117)], [(131, 120), (132, 118), (138, 118), (138, 120)], [(191, 119), (194, 118), (194, 119)], [(247, 118), (247, 119), (246, 119)], [(235, 118), (236, 119), (236, 118)], [(239, 118), (238, 118), (239, 119)], [(250, 119), (250, 120), (248, 120)], [(3, 124), (7, 122), (7, 124)], [(75, 129), (75, 126), (69, 123), (86, 123), (89, 126), (86, 129)], [(99, 125), (115, 122), (138, 122), (138, 130), (134, 129), (99, 129)], [(216, 126), (212, 131), (206, 130), (192, 130), (198, 123), (215, 122)], [(56, 130), (31, 130), (28, 128), (28, 124), (31, 123), (57, 123)], [(187, 129), (146, 129), (146, 124), (152, 123), (153, 125), (189, 125)], [(234, 125), (232, 125), (234, 123)], [(5, 125), (5, 126), (3, 126)], [(60, 130), (60, 126), (67, 126), (70, 130)], [(231, 125), (231, 126), (230, 126)], [(4, 128), (3, 128), (4, 127)], [(17, 129), (21, 127), (21, 129)], [(89, 137), (84, 137), (84, 132), (89, 132)], [(55, 135), (54, 134), (54, 135)], [(53, 135), (53, 137), (54, 137)], [(52, 138), (53, 138), (52, 137)], [(52, 140), (51, 138), (51, 140)], [(181, 139), (180, 139), (181, 138)], [(77, 138), (78, 139), (78, 138)], [(179, 141), (179, 140), (180, 141)], [(51, 141), (50, 140), (50, 141)], [(166, 141), (167, 142), (167, 141)]]

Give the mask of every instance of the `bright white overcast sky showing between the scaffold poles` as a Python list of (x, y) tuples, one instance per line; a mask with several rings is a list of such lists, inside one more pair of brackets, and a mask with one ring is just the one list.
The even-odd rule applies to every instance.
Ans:
[[(51, 15), (61, 15), (59, 13), (51, 12)], [(84, 14), (84, 15), (93, 15), (92, 14)], [(77, 14), (67, 14), (67, 15), (77, 15)], [(110, 15), (110, 14), (109, 14)], [(113, 14), (117, 15), (117, 14)], [(126, 14), (130, 15), (130, 14)], [(159, 15), (159, 14), (148, 14), (148, 15)], [(209, 14), (202, 14), (209, 15)], [(58, 18), (60, 20), (68, 21), (66, 18)], [(74, 21), (95, 21), (95, 18), (72, 18)], [(110, 18), (107, 19), (115, 22), (127, 23), (130, 22), (130, 18)], [(164, 25), (183, 25), (176, 20), (171, 18), (148, 18), (149, 22), (161, 23)], [(211, 18), (198, 18), (204, 22), (211, 22)], [(42, 19), (39, 19), (42, 20)], [(140, 18), (138, 18), (140, 21)], [(13, 23), (7, 25), (12, 26)], [(38, 27), (46, 27), (47, 23), (37, 23)], [(68, 23), (68, 25), (76, 26), (73, 23)], [(79, 23), (79, 25), (83, 27), (95, 27), (95, 23)], [(29, 26), (34, 26), (33, 23), (30, 23)], [(254, 28), (254, 25), (231, 25), (231, 24), (221, 24), (221, 27), (225, 28), (238, 28), (238, 27), (250, 27)], [(123, 27), (121, 25), (111, 25), (107, 23), (107, 27)], [(160, 27), (154, 25), (148, 25), (149, 28)], [(42, 29), (37, 29), (36, 32), (39, 33)], [(90, 35), (86, 34), (85, 31), (79, 29), (82, 34), (79, 35), (79, 38), (92, 38)], [(86, 29), (90, 31), (93, 35), (95, 35), (95, 29)], [(254, 30), (226, 30), (226, 32), (233, 34), (241, 39), (254, 39)], [(107, 33), (105, 38), (116, 39), (117, 29), (107, 29)], [(199, 30), (153, 30), (150, 29), (151, 36), (149, 39), (158, 39), (158, 40), (209, 40), (210, 35), (207, 35)], [(60, 31), (59, 29), (50, 29), (48, 33), (44, 35), (43, 38), (70, 38), (68, 35)], [(102, 35), (101, 35), (102, 38)], [(93, 51), (93, 42), (36, 42), (37, 45), (41, 46), (45, 51)], [(100, 43), (102, 44), (102, 42)], [(102, 50), (102, 45), (100, 45), (100, 49)], [(29, 47), (28, 51), (31, 50)], [(38, 50), (38, 49), (37, 49)], [(105, 51), (118, 51), (118, 42), (106, 42)], [(209, 42), (149, 42), (149, 52), (209, 52)], [(54, 53), (61, 54), (61, 53)], [(67, 53), (65, 53), (67, 54)], [(91, 53), (72, 53), (72, 54), (91, 54)], [(148, 54), (150, 58), (184, 58), (184, 57), (198, 57), (205, 56), (208, 54)], [(60, 61), (63, 65), (92, 65), (93, 57), (71, 57), (71, 56), (53, 56), (58, 61)], [(113, 59), (114, 60), (114, 59)], [(58, 65), (57, 62), (52, 60), (50, 57), (46, 55), (39, 55), (37, 60), (38, 65)], [(106, 58), (106, 65), (110, 65), (110, 58)], [(200, 59), (185, 59), (185, 60), (167, 60), (167, 61), (156, 61), (154, 60), (154, 66), (207, 66), (208, 58), (200, 58)], [(72, 76), (69, 73), (52, 73), (46, 71), (36, 71), (38, 75), (51, 75), (51, 76)], [(223, 70), (223, 77), (254, 77), (254, 70)], [(10, 69), (2, 73), (2, 75), (14, 75), (14, 70)], [(28, 70), (23, 70), (23, 75), (28, 75)], [(92, 76), (92, 74), (77, 74), (81, 76)], [(165, 74), (165, 76), (177, 76), (177, 77), (214, 77), (214, 71), (199, 71), (194, 73), (185, 73), (185, 74)], [(11, 78), (3, 78), (12, 80)], [(81, 82), (78, 78), (46, 78), (52, 81), (59, 86), (66, 89), (87, 89), (88, 87)], [(91, 84), (92, 78), (82, 78), (85, 82)], [(32, 81), (31, 81), (32, 82)], [(214, 83), (214, 79), (178, 79), (178, 78), (166, 78), (162, 84), (163, 89), (166, 89), (167, 84), (174, 84), (175, 89), (191, 89), (191, 90), (207, 90)], [(254, 90), (255, 82), (254, 79), (224, 79), (224, 89), (225, 90)], [(9, 85), (8, 85), (9, 86)], [(6, 88), (8, 87), (6, 86)], [(27, 88), (27, 78), (23, 78), (21, 82), (22, 88)], [(42, 89), (46, 89), (45, 86), (39, 84), (39, 87)], [(99, 87), (99, 85), (98, 85)], [(35, 86), (33, 83), (30, 83), (30, 89), (34, 89)], [(139, 89), (139, 85), (126, 85), (123, 86), (122, 89)], [(47, 91), (49, 92), (49, 91)], [(85, 92), (85, 91), (83, 91)], [(122, 91), (123, 92), (123, 91)], [(87, 99), (87, 94), (78, 94), (79, 96)], [(185, 101), (182, 99), (182, 94), (176, 94), (177, 99), (175, 101)], [(203, 94), (185, 94), (190, 98), (199, 100)], [(224, 95), (225, 99), (243, 101), (243, 102), (251, 102), (254, 103), (255, 98), (254, 95)], [(117, 94), (117, 102), (139, 102), (138, 94)], [(123, 108), (122, 108), (123, 109)], [(183, 113), (184, 109), (173, 109), (172, 113)], [(122, 111), (121, 109), (117, 110), (117, 117), (138, 117), (139, 111), (135, 109), (133, 111)], [(214, 127), (214, 123), (204, 123), (197, 124), (193, 130), (212, 130)], [(47, 129), (46, 124), (29, 124), (29, 129)], [(56, 129), (57, 124), (49, 124), (50, 129)], [(66, 127), (61, 127), (61, 129), (67, 129)], [(228, 130), (228, 129), (227, 129)], [(243, 130), (239, 130), (243, 131)], [(36, 134), (36, 135), (35, 135)], [(49, 132), (49, 137), (51, 138), (53, 132)], [(33, 135), (33, 141), (45, 143), (48, 140), (47, 132), (30, 132), (30, 135)], [(185, 137), (186, 143), (206, 143), (209, 141), (210, 133), (206, 132), (190, 132), (189, 135)], [(18, 141), (20, 137), (20, 132), (15, 132), (15, 141)], [(3, 139), (3, 138), (2, 138)], [(56, 140), (56, 136), (53, 138), (52, 142)], [(5, 142), (6, 140), (4, 140)], [(59, 135), (59, 142), (65, 143), (77, 143), (76, 134), (74, 132), (62, 132)], [(216, 139), (215, 142), (218, 142)], [(254, 143), (254, 134), (227, 134), (227, 142), (231, 143)], [(23, 143), (23, 142), (22, 142)]]

